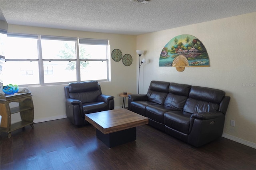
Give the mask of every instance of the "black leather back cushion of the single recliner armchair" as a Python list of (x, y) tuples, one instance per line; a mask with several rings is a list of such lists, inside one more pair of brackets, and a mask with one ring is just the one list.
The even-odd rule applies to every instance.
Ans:
[(82, 103), (95, 102), (101, 95), (98, 81), (69, 83), (68, 89), (70, 98), (80, 100)]

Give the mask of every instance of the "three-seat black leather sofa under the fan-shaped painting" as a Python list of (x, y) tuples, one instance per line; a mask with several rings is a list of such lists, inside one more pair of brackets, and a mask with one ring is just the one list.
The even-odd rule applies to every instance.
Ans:
[(158, 128), (199, 147), (222, 136), (230, 97), (207, 87), (151, 81), (147, 94), (128, 95), (128, 109)]

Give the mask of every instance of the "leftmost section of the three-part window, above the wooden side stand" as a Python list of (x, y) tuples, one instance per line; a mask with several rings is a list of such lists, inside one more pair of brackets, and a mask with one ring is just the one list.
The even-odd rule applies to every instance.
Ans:
[(3, 67), (4, 85), (39, 84), (37, 37), (7, 36)]

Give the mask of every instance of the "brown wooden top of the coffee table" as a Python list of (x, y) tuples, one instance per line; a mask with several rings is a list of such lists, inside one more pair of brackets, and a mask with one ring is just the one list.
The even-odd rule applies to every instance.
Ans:
[(114, 109), (86, 114), (85, 120), (103, 134), (148, 124), (148, 118), (127, 109)]

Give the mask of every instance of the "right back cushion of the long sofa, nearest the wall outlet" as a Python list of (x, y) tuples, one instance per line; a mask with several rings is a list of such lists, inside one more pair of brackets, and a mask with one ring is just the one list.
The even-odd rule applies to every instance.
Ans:
[(218, 111), (225, 92), (208, 87), (192, 86), (184, 111), (188, 113), (202, 113)]

